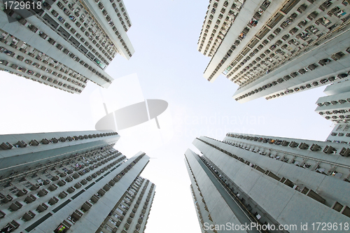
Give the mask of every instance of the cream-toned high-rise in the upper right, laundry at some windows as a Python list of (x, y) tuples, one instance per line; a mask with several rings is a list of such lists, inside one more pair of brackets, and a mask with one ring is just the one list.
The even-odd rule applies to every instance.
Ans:
[(221, 73), (239, 85), (243, 103), (274, 99), (348, 76), (349, 1), (211, 1), (198, 50), (211, 61), (204, 78)]

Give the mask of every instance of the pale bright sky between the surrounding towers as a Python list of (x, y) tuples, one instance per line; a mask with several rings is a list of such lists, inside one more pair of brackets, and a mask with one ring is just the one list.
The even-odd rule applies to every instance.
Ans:
[(133, 80), (139, 95), (132, 101), (167, 101), (160, 129), (150, 120), (119, 132), (116, 144), (127, 157), (136, 150), (151, 157), (141, 174), (156, 185), (146, 233), (201, 232), (184, 162), (187, 148), (195, 150), (196, 137), (222, 140), (226, 133), (237, 132), (325, 141), (332, 123), (314, 112), (325, 87), (239, 104), (232, 99), (235, 83), (224, 76), (214, 83), (203, 78), (210, 58), (197, 51), (197, 41), (209, 1), (124, 3), (135, 52), (130, 60), (117, 55), (106, 69), (116, 82), (106, 90), (88, 83), (81, 94), (69, 94), (1, 72), (0, 134), (94, 129), (104, 115), (104, 101), (109, 111), (118, 108), (113, 98), (105, 97), (116, 97), (116, 103), (130, 101), (130, 93), (118, 91), (125, 88), (119, 80)]

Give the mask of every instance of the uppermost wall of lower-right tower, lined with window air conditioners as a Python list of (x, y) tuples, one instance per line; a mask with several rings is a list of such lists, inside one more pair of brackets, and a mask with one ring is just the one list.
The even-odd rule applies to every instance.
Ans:
[[(258, 158), (274, 158), (274, 160), (279, 161), (279, 164), (292, 164), (295, 167), (302, 168), (300, 171), (321, 173), (323, 175), (334, 176), (339, 181), (349, 182), (350, 160), (349, 157), (340, 155), (342, 149), (347, 148), (342, 143), (234, 133), (227, 134), (224, 141), (235, 144), (235, 146), (231, 146), (232, 148), (238, 147), (239, 149), (248, 150), (247, 153), (249, 155), (254, 155)], [(283, 141), (288, 143), (288, 146), (282, 146)], [(291, 147), (292, 143), (295, 147)], [(318, 150), (311, 150), (314, 145), (319, 146)], [(324, 152), (327, 146), (334, 149), (332, 153), (328, 154)], [(274, 160), (267, 161), (274, 162)]]

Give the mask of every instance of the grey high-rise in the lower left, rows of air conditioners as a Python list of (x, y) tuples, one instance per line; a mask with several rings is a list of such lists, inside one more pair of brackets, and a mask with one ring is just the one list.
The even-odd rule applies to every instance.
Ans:
[(144, 232), (149, 157), (127, 159), (115, 132), (0, 135), (1, 232)]

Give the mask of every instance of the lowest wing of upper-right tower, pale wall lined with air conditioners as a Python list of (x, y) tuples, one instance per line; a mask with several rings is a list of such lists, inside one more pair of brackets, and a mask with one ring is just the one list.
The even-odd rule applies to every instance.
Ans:
[[(350, 55), (346, 52), (349, 43), (349, 31), (346, 31), (318, 48), (294, 57), (279, 69), (269, 71), (259, 81), (240, 87), (233, 98), (241, 103), (259, 97), (269, 100), (338, 82), (342, 75), (347, 76), (349, 71)], [(337, 52), (342, 52), (344, 56), (341, 59), (332, 59), (332, 55)], [(329, 59), (331, 62), (322, 66), (319, 62), (323, 59)], [(301, 73), (304, 71), (307, 72)]]

